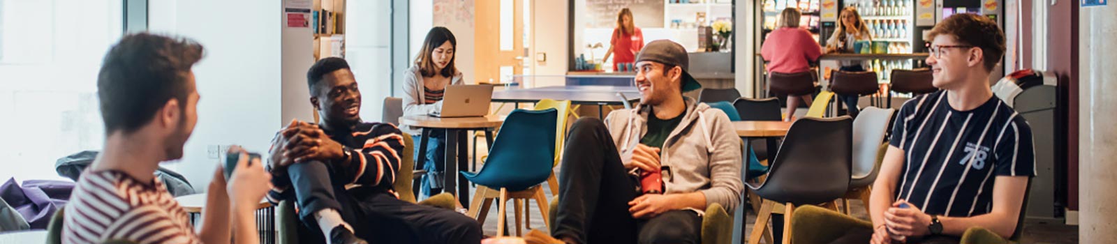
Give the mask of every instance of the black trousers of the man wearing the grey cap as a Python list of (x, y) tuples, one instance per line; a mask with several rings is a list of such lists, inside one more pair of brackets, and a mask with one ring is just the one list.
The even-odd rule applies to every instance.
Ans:
[(628, 202), (640, 195), (598, 118), (574, 123), (558, 174), (558, 209), (552, 235), (580, 243), (698, 243), (701, 217), (671, 211), (632, 218)]

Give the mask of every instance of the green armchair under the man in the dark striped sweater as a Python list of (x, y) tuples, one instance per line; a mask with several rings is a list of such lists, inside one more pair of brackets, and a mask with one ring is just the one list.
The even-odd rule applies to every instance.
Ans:
[[(393, 188), (400, 199), (416, 203), (414, 192), (411, 189), (411, 179), (414, 178), (414, 140), (411, 135), (403, 133), (403, 152), (400, 169), (397, 173)], [(455, 209), (457, 199), (449, 193), (442, 193), (419, 202), (420, 205), (435, 206), (446, 209)], [(298, 214), (295, 212), (295, 203), (292, 201), (280, 201), (276, 207), (276, 224), (278, 233), (276, 241), (279, 244), (295, 244), (298, 242), (299, 223)]]

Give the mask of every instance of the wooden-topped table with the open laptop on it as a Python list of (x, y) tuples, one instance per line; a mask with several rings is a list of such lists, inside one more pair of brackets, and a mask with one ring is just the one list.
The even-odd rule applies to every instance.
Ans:
[[(446, 129), (446, 173), (442, 174), (443, 191), (458, 196), (462, 206), (469, 206), (469, 184), (465, 177), (458, 176), (458, 168), (468, 168), (469, 140), (466, 139), (468, 130), (485, 130), (485, 138), (488, 146), (493, 146), (493, 128), (504, 124), (505, 116), (488, 115), (479, 117), (439, 118), (432, 116), (411, 115), (400, 117), (400, 125), (422, 128), (419, 139), (419, 154), (427, 155), (427, 140), (433, 129)], [(452, 146), (457, 145), (457, 146)], [(461, 153), (460, 155), (458, 153)], [(416, 160), (416, 169), (422, 169), (427, 157), (419, 156)], [(414, 184), (412, 184), (414, 185)], [(419, 187), (412, 187), (416, 193)], [(412, 193), (412, 194), (416, 194)], [(458, 194), (461, 193), (461, 194)], [(431, 193), (433, 194), (433, 193)]]

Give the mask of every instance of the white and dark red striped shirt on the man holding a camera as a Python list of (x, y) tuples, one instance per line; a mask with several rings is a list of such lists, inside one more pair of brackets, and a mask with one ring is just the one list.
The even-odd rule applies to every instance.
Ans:
[(141, 183), (121, 172), (86, 170), (65, 208), (63, 243), (201, 243), (159, 178)]

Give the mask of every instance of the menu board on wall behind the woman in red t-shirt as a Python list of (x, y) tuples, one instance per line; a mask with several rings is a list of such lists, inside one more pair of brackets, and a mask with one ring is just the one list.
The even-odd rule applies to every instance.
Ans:
[(663, 28), (663, 0), (586, 0), (586, 28), (615, 28), (617, 13), (628, 8), (638, 28)]

